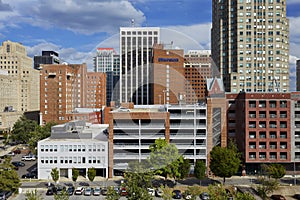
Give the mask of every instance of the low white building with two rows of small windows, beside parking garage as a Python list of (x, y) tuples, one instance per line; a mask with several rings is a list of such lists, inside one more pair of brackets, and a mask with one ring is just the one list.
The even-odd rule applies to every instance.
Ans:
[(72, 178), (72, 169), (87, 177), (89, 168), (96, 176), (108, 175), (108, 124), (68, 122), (51, 128), (51, 136), (38, 142), (38, 178), (51, 180), (57, 168), (60, 177)]

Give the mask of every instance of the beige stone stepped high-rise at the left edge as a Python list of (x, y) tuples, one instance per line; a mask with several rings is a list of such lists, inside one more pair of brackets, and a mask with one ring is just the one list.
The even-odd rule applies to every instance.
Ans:
[[(25, 46), (9, 40), (2, 43), (0, 46), (0, 70), (3, 71), (1, 76), (5, 77), (3, 81), (7, 84), (1, 84), (0, 88), (4, 87), (4, 90), (7, 91), (6, 94), (13, 95), (13, 97), (1, 95), (0, 105), (13, 106), (14, 110), (21, 112), (40, 109), (40, 74), (32, 66), (32, 59), (27, 56)], [(0, 110), (3, 110), (4, 107)]]

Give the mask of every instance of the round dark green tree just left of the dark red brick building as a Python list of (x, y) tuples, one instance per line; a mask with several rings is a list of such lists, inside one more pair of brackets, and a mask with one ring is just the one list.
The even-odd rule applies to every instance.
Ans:
[(219, 177), (231, 177), (236, 174), (241, 164), (240, 153), (233, 143), (228, 147), (215, 146), (210, 152), (210, 169)]

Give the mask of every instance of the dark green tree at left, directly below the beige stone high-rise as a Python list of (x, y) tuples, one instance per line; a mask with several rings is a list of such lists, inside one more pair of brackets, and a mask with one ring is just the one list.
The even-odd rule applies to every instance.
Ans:
[(21, 116), (13, 126), (12, 139), (27, 144), (36, 126), (38, 126), (36, 121), (27, 119), (24, 115)]

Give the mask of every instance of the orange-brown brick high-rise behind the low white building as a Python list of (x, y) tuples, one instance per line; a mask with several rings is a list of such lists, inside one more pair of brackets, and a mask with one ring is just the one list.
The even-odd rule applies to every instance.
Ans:
[(90, 121), (95, 116), (88, 112), (86, 115), (77, 114), (77, 108), (93, 108), (96, 112), (106, 104), (105, 74), (87, 72), (85, 63), (41, 65), (40, 73), (40, 121), (43, 123)]

